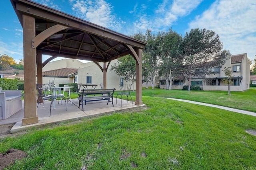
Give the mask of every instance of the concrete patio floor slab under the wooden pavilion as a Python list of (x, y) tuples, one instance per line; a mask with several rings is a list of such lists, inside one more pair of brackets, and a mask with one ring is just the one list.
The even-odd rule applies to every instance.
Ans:
[(146, 105), (137, 106), (132, 102), (122, 99), (122, 107), (121, 107), (121, 99), (114, 98), (114, 107), (112, 106), (112, 102), (107, 105), (107, 101), (95, 101), (88, 102), (84, 106), (84, 111), (82, 111), (82, 107), (78, 108), (78, 100), (72, 99), (72, 104), (70, 101), (67, 103), (67, 111), (65, 109), (65, 102), (62, 100), (62, 104), (58, 104), (56, 101), (56, 109), (51, 110), (50, 115), (50, 102), (45, 102), (43, 105), (39, 104), (37, 113), (38, 113), (38, 123), (31, 125), (22, 125), (22, 119), (24, 117), (24, 100), (22, 101), (22, 110), (18, 111), (8, 119), (0, 120), (0, 125), (15, 123), (15, 125), (10, 130), (10, 133), (15, 133), (18, 131), (24, 131), (31, 127), (38, 127), (46, 124), (63, 122), (63, 121), (72, 121), (78, 120), (85, 117), (93, 117), (99, 115), (106, 115), (111, 113), (117, 113), (121, 111), (130, 111), (131, 109), (142, 109), (146, 107)]

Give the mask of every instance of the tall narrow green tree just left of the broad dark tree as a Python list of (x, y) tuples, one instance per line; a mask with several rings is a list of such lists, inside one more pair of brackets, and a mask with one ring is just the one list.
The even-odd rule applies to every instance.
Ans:
[(180, 76), (180, 68), (182, 67), (182, 55), (180, 44), (182, 37), (175, 31), (170, 29), (166, 33), (158, 34), (159, 42), (159, 74), (165, 77), (166, 89), (172, 89), (172, 82), (175, 77)]

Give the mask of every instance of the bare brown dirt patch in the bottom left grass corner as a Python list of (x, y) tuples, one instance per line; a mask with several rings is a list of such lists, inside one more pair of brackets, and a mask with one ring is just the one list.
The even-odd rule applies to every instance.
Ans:
[(0, 153), (0, 170), (26, 156), (24, 151), (18, 149), (9, 149), (6, 153)]

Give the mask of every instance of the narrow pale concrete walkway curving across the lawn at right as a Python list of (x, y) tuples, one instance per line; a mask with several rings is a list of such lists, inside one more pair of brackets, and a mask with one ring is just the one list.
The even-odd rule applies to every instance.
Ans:
[(230, 107), (218, 106), (218, 105), (214, 105), (214, 104), (206, 104), (206, 103), (201, 103), (201, 102), (194, 102), (194, 101), (183, 100), (183, 99), (174, 99), (174, 98), (166, 98), (166, 99), (177, 100), (177, 101), (180, 101), (180, 102), (187, 102), (187, 103), (198, 104), (198, 105), (203, 105), (203, 106), (216, 107), (216, 108), (218, 108), (218, 109), (224, 109), (224, 110), (234, 111), (234, 112), (242, 113), (242, 114), (246, 114), (246, 115), (256, 116), (256, 113), (254, 113), (254, 112), (252, 112), (252, 111), (245, 111), (245, 110), (240, 110), (240, 109), (233, 109), (233, 108), (230, 108)]

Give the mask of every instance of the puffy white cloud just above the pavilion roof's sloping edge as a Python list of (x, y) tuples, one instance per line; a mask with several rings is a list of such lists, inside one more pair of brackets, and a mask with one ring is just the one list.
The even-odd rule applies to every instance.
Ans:
[(70, 0), (76, 16), (103, 27), (118, 30), (122, 21), (113, 14), (113, 7), (105, 0)]

